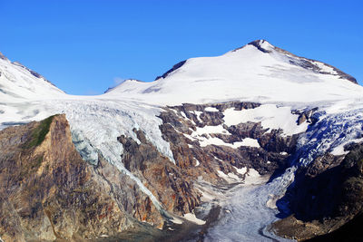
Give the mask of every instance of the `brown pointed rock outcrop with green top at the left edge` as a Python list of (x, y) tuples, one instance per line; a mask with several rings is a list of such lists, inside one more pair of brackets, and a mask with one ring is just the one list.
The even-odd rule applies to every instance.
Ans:
[(139, 220), (163, 223), (138, 186), (72, 143), (64, 115), (0, 131), (0, 236), (5, 241), (83, 241)]

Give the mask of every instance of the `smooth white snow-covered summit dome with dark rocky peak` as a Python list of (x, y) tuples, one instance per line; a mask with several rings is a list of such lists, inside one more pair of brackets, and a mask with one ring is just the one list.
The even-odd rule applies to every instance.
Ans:
[(319, 102), (361, 96), (362, 91), (337, 68), (260, 40), (221, 56), (178, 63), (155, 82), (125, 81), (105, 96), (159, 104)]

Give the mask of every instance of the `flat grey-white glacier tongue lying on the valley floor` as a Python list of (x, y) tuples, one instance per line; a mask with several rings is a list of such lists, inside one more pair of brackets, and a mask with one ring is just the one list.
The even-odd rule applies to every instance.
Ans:
[(279, 211), (267, 203), (271, 194), (283, 195), (292, 180), (293, 170), (288, 169), (268, 184), (261, 185), (266, 178), (255, 177), (229, 190), (221, 201), (222, 211), (226, 212), (209, 229), (205, 241), (289, 241), (270, 233), (269, 225), (278, 219)]

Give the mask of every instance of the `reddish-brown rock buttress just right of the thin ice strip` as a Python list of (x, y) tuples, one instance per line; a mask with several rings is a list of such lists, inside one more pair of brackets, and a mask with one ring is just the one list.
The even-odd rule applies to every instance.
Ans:
[(164, 208), (179, 215), (191, 212), (199, 204), (200, 194), (192, 188), (188, 174), (163, 157), (142, 131), (134, 131), (141, 144), (124, 136), (118, 139), (124, 147), (125, 168), (142, 180)]

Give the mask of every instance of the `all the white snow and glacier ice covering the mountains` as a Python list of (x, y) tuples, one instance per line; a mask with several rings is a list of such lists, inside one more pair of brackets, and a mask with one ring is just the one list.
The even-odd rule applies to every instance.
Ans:
[[(265, 41), (260, 41), (260, 47), (266, 52), (248, 44), (221, 56), (192, 58), (165, 78), (155, 82), (128, 80), (99, 96), (65, 94), (25, 67), (0, 59), (0, 129), (65, 113), (75, 147), (84, 160), (94, 163), (102, 155), (135, 180), (153, 204), (162, 209), (152, 192), (123, 167), (123, 145), (117, 137), (126, 135), (139, 141), (132, 129), (141, 129), (174, 162), (170, 144), (162, 139), (159, 129), (162, 120), (157, 115), (163, 106), (259, 102), (260, 107), (255, 109), (224, 111), (225, 124), (260, 121), (263, 128), (281, 129), (284, 135), (303, 132), (293, 167), (269, 184), (259, 185), (259, 175), (251, 171), (245, 184), (231, 190), (221, 202), (222, 208), (230, 212), (211, 227), (207, 241), (282, 241), (268, 229), (278, 213), (271, 198), (283, 196), (299, 166), (308, 165), (325, 152), (345, 154), (344, 145), (363, 140), (363, 87), (339, 76), (324, 63), (314, 61), (317, 69), (307, 69), (296, 64), (302, 62), (301, 58), (282, 53)], [(314, 114), (319, 121), (312, 127), (308, 123), (297, 125), (298, 115), (291, 111), (315, 107), (319, 108)], [(205, 111), (218, 110), (210, 107)], [(201, 113), (196, 114), (199, 117)], [(218, 138), (208, 138), (211, 133), (228, 131), (222, 126), (205, 126), (187, 137), (199, 140), (201, 146), (260, 147), (258, 140), (253, 139), (226, 144)], [(204, 200), (212, 198), (208, 191), (203, 194)], [(185, 218), (203, 223), (192, 214)]]

